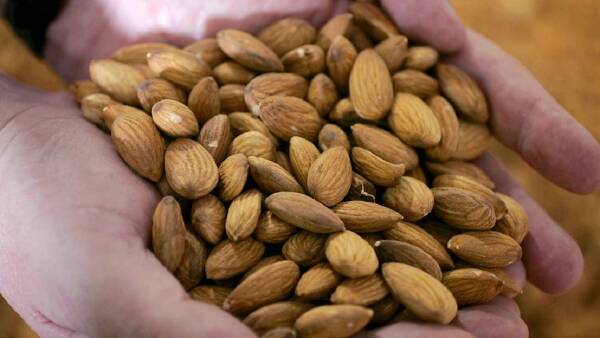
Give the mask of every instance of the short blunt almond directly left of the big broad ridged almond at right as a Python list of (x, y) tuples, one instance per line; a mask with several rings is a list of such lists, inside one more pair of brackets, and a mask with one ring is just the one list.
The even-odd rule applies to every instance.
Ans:
[(383, 193), (383, 205), (415, 222), (427, 216), (434, 206), (434, 197), (427, 185), (415, 178), (403, 176), (398, 184)]

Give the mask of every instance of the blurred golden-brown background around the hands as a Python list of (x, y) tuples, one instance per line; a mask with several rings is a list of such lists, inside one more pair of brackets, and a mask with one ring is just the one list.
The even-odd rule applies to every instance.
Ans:
[[(451, 0), (464, 23), (520, 60), (548, 91), (600, 139), (600, 1)], [(0, 71), (25, 84), (65, 88), (0, 21)], [(518, 298), (531, 337), (600, 337), (600, 192), (578, 196), (561, 190), (499, 144), (517, 179), (575, 237), (586, 269), (579, 285), (561, 296), (528, 286)], [(0, 338), (36, 337), (0, 297)]]

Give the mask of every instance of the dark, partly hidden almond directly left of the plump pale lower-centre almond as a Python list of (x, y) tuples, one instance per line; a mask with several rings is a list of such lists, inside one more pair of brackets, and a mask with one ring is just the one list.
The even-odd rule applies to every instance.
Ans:
[(292, 235), (281, 251), (285, 258), (300, 266), (311, 266), (325, 261), (325, 242), (327, 236), (309, 231), (300, 231)]

